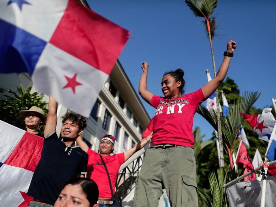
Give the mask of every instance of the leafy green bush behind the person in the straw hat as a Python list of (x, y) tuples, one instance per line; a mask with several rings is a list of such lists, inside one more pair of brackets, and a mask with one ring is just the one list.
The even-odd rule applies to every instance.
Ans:
[[(5, 100), (0, 100), (0, 120), (12, 124), (18, 128), (26, 129), (25, 121), (22, 119), (19, 112), (21, 110), (28, 110), (32, 106), (37, 106), (44, 111), (44, 114), (48, 114), (48, 104), (42, 101), (43, 95), (37, 92), (30, 94), (31, 87), (27, 90), (24, 89), (20, 83), (20, 87), (17, 87), (16, 91), (5, 89), (7, 93), (11, 95), (4, 95)], [(45, 125), (39, 126), (39, 133), (43, 134)]]

